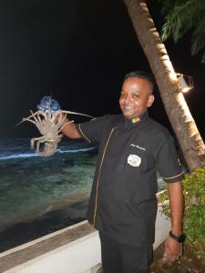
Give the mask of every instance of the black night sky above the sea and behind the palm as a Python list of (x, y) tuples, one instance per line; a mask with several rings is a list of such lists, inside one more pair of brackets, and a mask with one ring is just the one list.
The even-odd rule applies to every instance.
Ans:
[[(160, 29), (154, 2), (150, 13)], [(200, 55), (190, 56), (190, 35), (165, 45), (175, 71), (193, 76), (194, 90), (185, 96), (205, 136), (205, 66)], [(150, 71), (122, 0), (1, 0), (0, 137), (37, 136), (29, 123), (14, 126), (46, 95), (65, 110), (119, 113), (122, 80), (132, 70)], [(150, 115), (169, 126), (157, 88), (155, 96)]]

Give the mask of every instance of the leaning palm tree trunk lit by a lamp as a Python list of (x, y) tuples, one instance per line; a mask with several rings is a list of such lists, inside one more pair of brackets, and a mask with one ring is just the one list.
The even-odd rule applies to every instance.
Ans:
[(165, 46), (149, 15), (146, 1), (124, 0), (128, 14), (149, 60), (149, 66), (156, 78), (159, 92), (170, 124), (179, 140), (186, 163), (192, 171), (205, 166), (205, 146), (190, 109), (178, 85), (177, 76), (169, 61)]

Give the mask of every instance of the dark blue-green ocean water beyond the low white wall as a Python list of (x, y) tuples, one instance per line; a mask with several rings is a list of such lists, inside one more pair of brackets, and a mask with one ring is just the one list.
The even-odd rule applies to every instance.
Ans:
[(0, 251), (86, 219), (96, 160), (83, 140), (40, 157), (28, 138), (0, 139)]

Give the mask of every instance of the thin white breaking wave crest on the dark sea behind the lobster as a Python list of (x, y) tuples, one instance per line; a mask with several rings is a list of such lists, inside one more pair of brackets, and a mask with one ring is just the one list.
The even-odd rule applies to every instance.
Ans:
[[(61, 150), (56, 149), (56, 153), (65, 154), (65, 153), (80, 153), (80, 152), (87, 152), (90, 150), (94, 150), (97, 147), (87, 147), (87, 148), (78, 148), (78, 149), (68, 149), (68, 150)], [(0, 156), (0, 160), (7, 160), (7, 159), (15, 159), (15, 158), (26, 158), (26, 157), (40, 157), (35, 153), (25, 153), (25, 154), (13, 154), (8, 156)]]

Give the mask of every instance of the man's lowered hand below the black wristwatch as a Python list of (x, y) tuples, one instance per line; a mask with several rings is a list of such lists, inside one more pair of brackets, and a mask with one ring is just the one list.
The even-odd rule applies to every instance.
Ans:
[(183, 253), (183, 245), (173, 238), (168, 237), (165, 241), (163, 262), (174, 262), (178, 260)]

